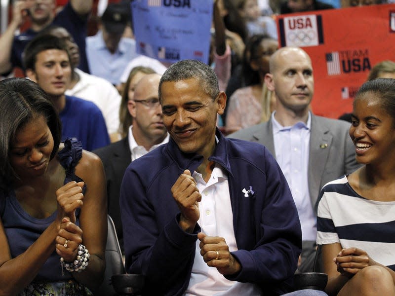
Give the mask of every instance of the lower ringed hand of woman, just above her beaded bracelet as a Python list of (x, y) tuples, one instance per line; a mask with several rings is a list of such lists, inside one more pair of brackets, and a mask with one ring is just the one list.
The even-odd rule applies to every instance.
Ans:
[(82, 243), (82, 230), (69, 217), (64, 217), (55, 242), (56, 253), (66, 262), (73, 262), (77, 257), (78, 246)]

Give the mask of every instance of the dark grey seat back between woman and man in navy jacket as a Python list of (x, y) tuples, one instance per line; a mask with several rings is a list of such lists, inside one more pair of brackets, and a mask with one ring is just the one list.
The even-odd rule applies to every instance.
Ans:
[(116, 274), (124, 274), (125, 266), (123, 264), (122, 252), (119, 247), (117, 232), (115, 225), (110, 215), (107, 215), (107, 244), (106, 244), (106, 270), (104, 272), (103, 283), (95, 290), (92, 291), (94, 296), (117, 296), (111, 277)]

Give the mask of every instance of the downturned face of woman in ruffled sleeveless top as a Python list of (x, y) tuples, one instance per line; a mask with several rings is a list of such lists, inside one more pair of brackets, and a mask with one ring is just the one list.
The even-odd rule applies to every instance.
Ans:
[(38, 115), (17, 130), (9, 150), (10, 164), (21, 179), (41, 176), (48, 167), (53, 147), (46, 120)]

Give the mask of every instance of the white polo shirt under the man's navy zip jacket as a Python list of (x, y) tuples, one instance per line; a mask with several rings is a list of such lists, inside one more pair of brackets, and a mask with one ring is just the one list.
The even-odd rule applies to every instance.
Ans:
[[(200, 218), (197, 221), (201, 232), (208, 236), (225, 238), (229, 251), (237, 251), (228, 176), (225, 170), (216, 164), (207, 183), (197, 172), (194, 172), (192, 177), (197, 182), (202, 196), (199, 202)], [(197, 240), (191, 279), (184, 295), (261, 295), (257, 285), (227, 280), (217, 268), (209, 267), (200, 255), (199, 244), (200, 241)]]

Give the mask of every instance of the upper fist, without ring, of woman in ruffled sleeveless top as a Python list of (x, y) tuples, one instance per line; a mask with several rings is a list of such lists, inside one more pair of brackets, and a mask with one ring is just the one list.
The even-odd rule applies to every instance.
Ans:
[(56, 190), (59, 220), (67, 216), (71, 222), (76, 222), (76, 210), (83, 205), (83, 185), (83, 182), (72, 181)]

